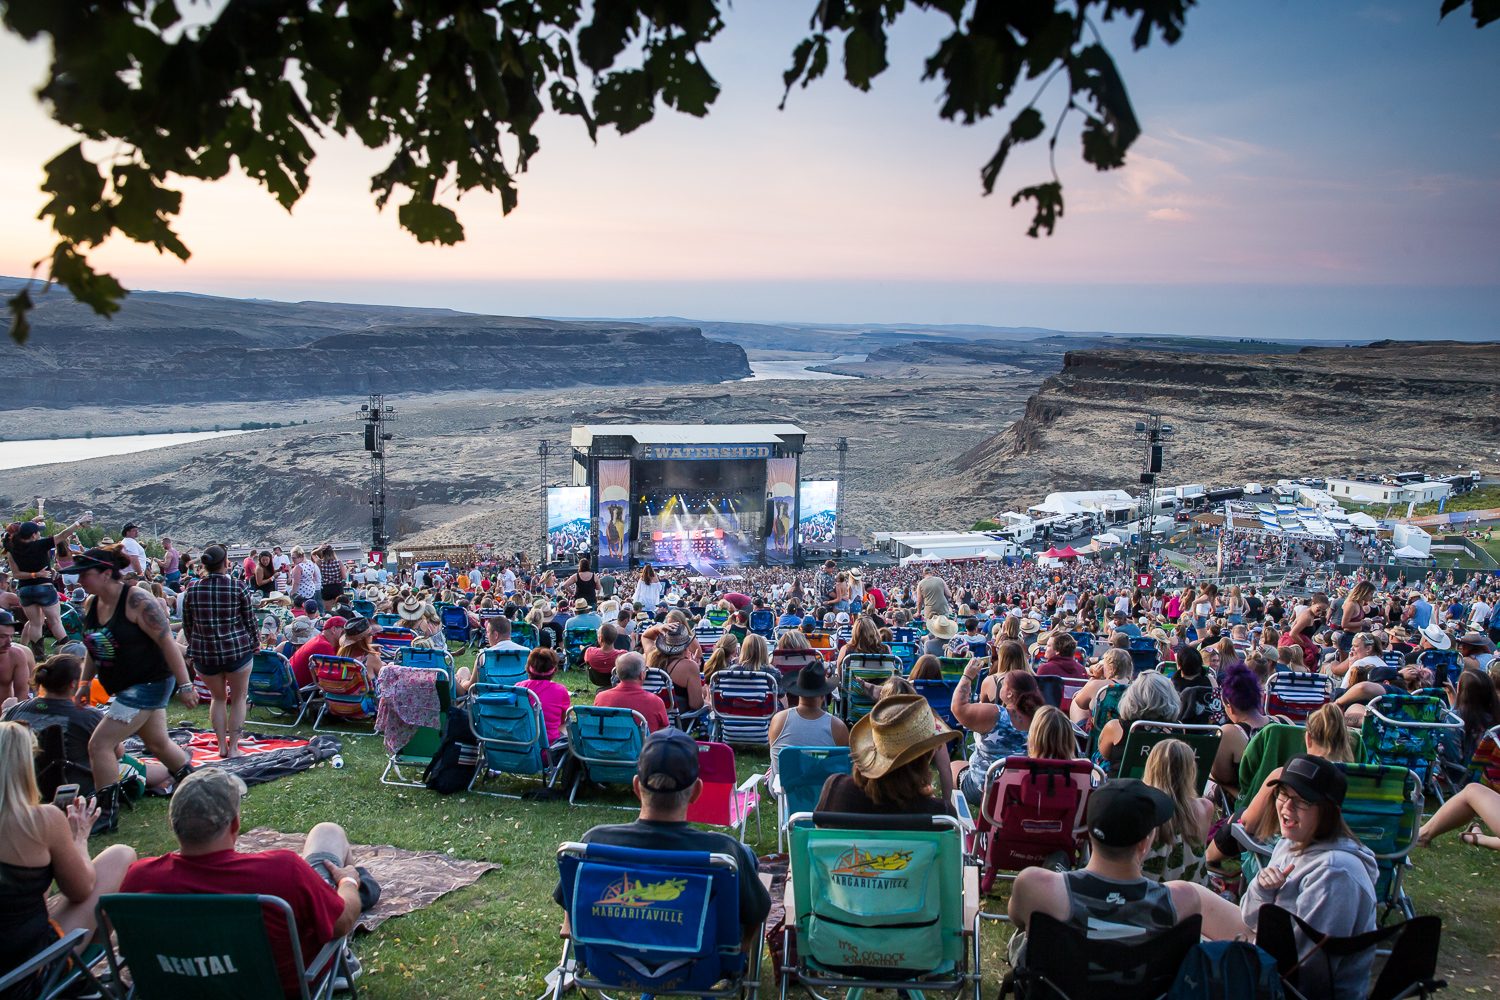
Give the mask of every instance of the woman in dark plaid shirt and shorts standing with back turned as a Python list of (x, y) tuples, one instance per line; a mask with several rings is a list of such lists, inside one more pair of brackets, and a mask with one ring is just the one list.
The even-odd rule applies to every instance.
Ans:
[(242, 757), (250, 663), (255, 658), (255, 615), (250, 592), (230, 577), (228, 553), (213, 544), (202, 550), (207, 576), (183, 594), (183, 634), (194, 670), (213, 697), (208, 718), (220, 757)]

